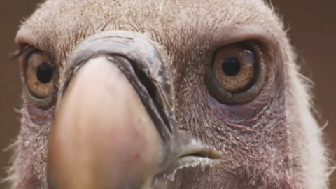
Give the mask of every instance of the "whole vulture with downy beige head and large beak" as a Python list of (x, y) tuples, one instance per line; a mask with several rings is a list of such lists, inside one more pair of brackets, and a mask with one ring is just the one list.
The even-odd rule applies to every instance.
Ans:
[(262, 0), (46, 0), (16, 37), (13, 189), (326, 189), (328, 148)]

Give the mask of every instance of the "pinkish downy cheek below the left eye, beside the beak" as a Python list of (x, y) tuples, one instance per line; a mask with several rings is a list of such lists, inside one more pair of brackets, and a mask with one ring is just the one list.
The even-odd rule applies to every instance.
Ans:
[(16, 188), (47, 188), (45, 161), (54, 108), (38, 109), (23, 97), (22, 125), (13, 159)]

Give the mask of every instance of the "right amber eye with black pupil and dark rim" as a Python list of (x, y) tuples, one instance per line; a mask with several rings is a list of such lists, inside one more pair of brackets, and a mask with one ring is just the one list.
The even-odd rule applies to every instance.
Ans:
[(265, 83), (262, 52), (254, 41), (218, 48), (204, 77), (209, 93), (222, 104), (242, 104), (258, 95)]

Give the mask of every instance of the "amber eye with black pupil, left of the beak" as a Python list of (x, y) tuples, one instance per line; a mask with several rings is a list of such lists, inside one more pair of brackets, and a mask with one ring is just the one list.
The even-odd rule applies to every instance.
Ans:
[[(32, 53), (25, 62), (25, 82), (34, 102), (45, 106), (54, 91), (55, 70), (48, 55), (42, 51)], [(48, 101), (48, 102), (45, 102)]]

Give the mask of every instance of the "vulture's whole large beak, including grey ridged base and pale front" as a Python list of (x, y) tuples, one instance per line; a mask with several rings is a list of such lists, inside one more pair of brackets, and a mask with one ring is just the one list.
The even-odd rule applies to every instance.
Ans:
[(169, 62), (143, 34), (85, 39), (61, 77), (48, 141), (50, 188), (149, 188), (177, 158), (204, 152), (177, 132)]

